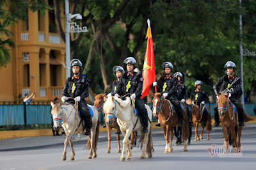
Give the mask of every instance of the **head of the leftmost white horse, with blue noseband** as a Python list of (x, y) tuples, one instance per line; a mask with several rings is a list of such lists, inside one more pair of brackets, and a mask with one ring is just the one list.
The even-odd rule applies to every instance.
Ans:
[(59, 130), (61, 127), (61, 121), (63, 121), (63, 111), (61, 109), (62, 102), (60, 104), (53, 104), (51, 102), (51, 114), (52, 114), (52, 120), (53, 120), (53, 128), (54, 130)]

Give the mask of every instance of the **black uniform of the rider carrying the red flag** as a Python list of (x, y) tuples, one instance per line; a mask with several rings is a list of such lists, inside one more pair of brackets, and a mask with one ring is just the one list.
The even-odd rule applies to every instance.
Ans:
[(127, 93), (135, 93), (135, 107), (138, 109), (139, 116), (141, 118), (141, 124), (143, 128), (148, 127), (148, 115), (147, 109), (145, 107), (144, 102), (141, 100), (141, 93), (143, 88), (143, 77), (141, 72), (132, 72), (130, 75), (129, 73), (125, 72), (118, 82), (116, 87), (115, 94), (118, 95), (125, 95)]

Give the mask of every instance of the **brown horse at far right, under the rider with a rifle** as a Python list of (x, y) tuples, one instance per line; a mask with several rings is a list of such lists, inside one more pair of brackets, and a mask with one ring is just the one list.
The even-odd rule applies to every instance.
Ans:
[(228, 151), (228, 140), (229, 144), (232, 144), (233, 149), (240, 148), (243, 127), (238, 127), (238, 113), (235, 113), (230, 100), (228, 100), (228, 94), (218, 95), (218, 97), (218, 111), (225, 137), (226, 151)]

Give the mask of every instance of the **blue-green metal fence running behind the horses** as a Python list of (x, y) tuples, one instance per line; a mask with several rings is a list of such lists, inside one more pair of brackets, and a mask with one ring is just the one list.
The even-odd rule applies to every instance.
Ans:
[[(151, 106), (152, 104), (148, 104)], [(213, 117), (214, 103), (206, 104), (211, 109)], [(256, 104), (247, 103), (244, 110), (254, 116), (253, 109)], [(51, 105), (0, 105), (0, 126), (12, 125), (46, 125), (51, 124)], [(100, 123), (104, 122), (104, 116), (99, 114)]]

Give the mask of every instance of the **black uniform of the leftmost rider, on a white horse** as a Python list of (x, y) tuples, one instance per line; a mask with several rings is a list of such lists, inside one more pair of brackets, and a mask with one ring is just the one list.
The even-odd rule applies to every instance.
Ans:
[[(81, 97), (81, 100), (78, 102), (78, 109), (81, 115), (81, 119), (85, 121), (83, 128), (92, 128), (92, 117), (89, 111), (89, 107), (84, 100), (84, 98), (89, 96), (89, 81), (87, 77), (81, 75), (79, 75), (77, 79), (74, 76), (68, 77), (63, 89), (63, 96), (72, 98), (79, 96)], [(75, 104), (74, 99), (68, 99), (67, 102)]]

